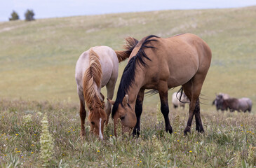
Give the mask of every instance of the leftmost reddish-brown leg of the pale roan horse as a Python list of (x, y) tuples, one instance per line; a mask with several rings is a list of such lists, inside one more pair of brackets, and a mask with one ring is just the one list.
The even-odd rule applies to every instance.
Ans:
[(84, 127), (84, 123), (86, 120), (86, 109), (85, 109), (85, 103), (83, 99), (83, 92), (80, 92), (80, 90), (78, 89), (78, 93), (79, 93), (79, 99), (80, 99), (80, 119), (81, 119), (80, 136), (83, 137), (86, 135), (86, 129)]

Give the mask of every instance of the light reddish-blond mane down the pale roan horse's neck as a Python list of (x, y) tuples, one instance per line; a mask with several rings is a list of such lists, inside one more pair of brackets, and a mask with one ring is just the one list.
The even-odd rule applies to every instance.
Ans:
[(100, 57), (92, 48), (89, 50), (90, 65), (83, 75), (83, 96), (87, 106), (93, 106), (90, 104), (97, 95), (97, 88), (101, 85), (102, 68), (99, 61)]

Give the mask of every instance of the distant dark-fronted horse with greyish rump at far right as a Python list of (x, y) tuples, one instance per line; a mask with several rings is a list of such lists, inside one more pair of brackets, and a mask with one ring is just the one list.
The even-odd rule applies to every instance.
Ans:
[(222, 111), (229, 109), (231, 112), (250, 112), (252, 110), (252, 101), (247, 97), (224, 99), (224, 97), (220, 96), (217, 102), (220, 104)]

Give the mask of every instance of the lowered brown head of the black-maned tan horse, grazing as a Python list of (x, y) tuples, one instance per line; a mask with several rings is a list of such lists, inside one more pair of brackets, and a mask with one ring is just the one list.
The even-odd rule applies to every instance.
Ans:
[[(109, 103), (114, 105), (115, 102), (111, 99), (108, 99)], [(115, 104), (116, 105), (116, 104)], [(114, 112), (114, 134), (116, 135), (116, 125), (117, 120), (120, 118), (121, 124), (122, 124), (122, 133), (129, 132), (130, 129), (135, 127), (137, 123), (137, 118), (135, 116), (135, 111), (133, 107), (128, 104), (128, 95), (126, 94), (125, 97), (123, 97), (123, 101), (120, 104), (117, 104), (117, 109)], [(113, 111), (112, 111), (113, 113)]]

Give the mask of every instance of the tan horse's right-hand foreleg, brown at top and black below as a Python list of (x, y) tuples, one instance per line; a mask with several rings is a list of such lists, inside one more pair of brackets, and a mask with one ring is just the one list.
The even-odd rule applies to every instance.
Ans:
[(159, 83), (159, 96), (161, 100), (161, 112), (163, 113), (166, 123), (166, 132), (173, 133), (173, 128), (170, 126), (169, 120), (169, 105), (168, 105), (168, 86), (166, 82)]

